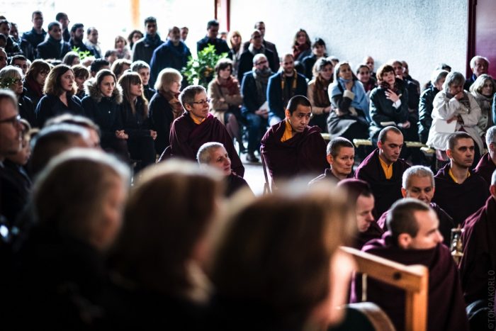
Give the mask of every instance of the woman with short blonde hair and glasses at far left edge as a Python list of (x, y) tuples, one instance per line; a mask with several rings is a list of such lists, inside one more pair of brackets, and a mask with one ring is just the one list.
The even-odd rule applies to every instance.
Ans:
[(37, 127), (35, 106), (26, 96), (23, 87), (23, 71), (21, 68), (8, 65), (0, 70), (0, 86), (2, 89), (10, 89), (17, 96), (19, 115), (28, 120), (29, 124)]

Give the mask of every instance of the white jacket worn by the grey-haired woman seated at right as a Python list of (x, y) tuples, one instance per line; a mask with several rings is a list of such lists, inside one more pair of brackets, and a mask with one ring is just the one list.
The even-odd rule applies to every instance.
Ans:
[(478, 145), (480, 155), (482, 155), (484, 144), (483, 140), (480, 138), (478, 133), (477, 123), (480, 120), (480, 107), (475, 101), (475, 98), (468, 91), (463, 91), (463, 93), (468, 97), (470, 101), (470, 108), (467, 109), (463, 106), (463, 103), (458, 102), (456, 98), (448, 99), (445, 91), (440, 91), (434, 97), (432, 102), (432, 125), (429, 130), (429, 138), (427, 138), (427, 146), (432, 147), (436, 150), (446, 150), (446, 143), (448, 142), (449, 135), (451, 133), (439, 133), (436, 131), (436, 122), (439, 120), (449, 120), (454, 116), (460, 115), (463, 119), (463, 125), (456, 123), (456, 131), (460, 131), (461, 128), (465, 130), (472, 138), (475, 140), (475, 144)]

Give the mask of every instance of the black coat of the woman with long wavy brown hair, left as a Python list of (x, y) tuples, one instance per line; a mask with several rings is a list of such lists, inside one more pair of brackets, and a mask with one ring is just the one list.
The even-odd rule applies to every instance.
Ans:
[(84, 109), (81, 106), (81, 100), (77, 96), (67, 95), (67, 106), (60, 101), (58, 96), (47, 94), (41, 98), (40, 103), (36, 106), (36, 120), (38, 125), (43, 127), (45, 122), (55, 116), (64, 113), (84, 116)]

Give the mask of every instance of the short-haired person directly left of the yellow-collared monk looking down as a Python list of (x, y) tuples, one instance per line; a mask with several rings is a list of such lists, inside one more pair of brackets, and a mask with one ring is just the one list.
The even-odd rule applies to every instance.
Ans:
[(327, 144), (327, 163), (329, 168), (323, 174), (312, 179), (309, 185), (319, 181), (332, 179), (342, 181), (353, 178), (353, 164), (355, 163), (355, 147), (346, 138), (336, 137)]

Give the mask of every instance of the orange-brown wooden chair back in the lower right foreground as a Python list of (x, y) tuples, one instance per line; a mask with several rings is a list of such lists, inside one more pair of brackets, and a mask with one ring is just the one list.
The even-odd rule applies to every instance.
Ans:
[(351, 247), (341, 247), (341, 249), (354, 257), (358, 266), (356, 272), (405, 290), (405, 331), (427, 330), (429, 293), (429, 269), (427, 267), (405, 266)]

